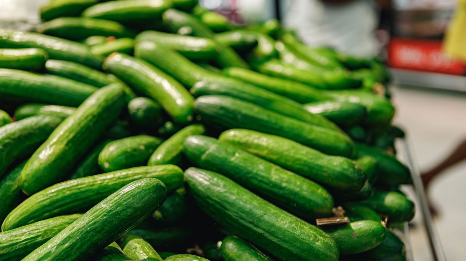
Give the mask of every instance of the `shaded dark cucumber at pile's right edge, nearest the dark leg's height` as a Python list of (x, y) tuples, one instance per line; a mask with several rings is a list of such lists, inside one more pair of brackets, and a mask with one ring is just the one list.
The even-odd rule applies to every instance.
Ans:
[(357, 157), (369, 155), (377, 160), (378, 181), (386, 185), (399, 185), (411, 182), (409, 169), (385, 151), (363, 143), (356, 143)]

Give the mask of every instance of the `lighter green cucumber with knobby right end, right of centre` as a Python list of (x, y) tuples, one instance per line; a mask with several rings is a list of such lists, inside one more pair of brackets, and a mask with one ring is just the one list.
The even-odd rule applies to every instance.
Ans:
[(233, 129), (224, 131), (219, 140), (339, 190), (357, 191), (366, 180), (362, 170), (352, 160), (325, 155), (287, 138), (254, 130)]

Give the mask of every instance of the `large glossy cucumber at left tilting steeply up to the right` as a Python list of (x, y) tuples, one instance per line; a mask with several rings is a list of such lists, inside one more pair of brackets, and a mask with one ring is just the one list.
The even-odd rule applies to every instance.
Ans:
[(117, 119), (123, 103), (120, 86), (107, 86), (89, 96), (29, 158), (21, 172), (22, 191), (31, 195), (62, 180)]

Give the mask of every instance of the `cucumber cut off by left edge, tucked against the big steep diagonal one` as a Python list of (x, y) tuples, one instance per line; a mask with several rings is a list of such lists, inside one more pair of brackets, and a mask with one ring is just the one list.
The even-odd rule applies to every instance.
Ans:
[(14, 161), (33, 153), (62, 120), (37, 115), (0, 127), (0, 177)]

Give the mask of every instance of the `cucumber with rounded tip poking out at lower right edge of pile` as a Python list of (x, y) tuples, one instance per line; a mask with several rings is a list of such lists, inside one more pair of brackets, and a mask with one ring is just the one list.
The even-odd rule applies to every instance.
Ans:
[(374, 190), (369, 199), (358, 203), (388, 215), (390, 222), (409, 221), (414, 216), (414, 203), (399, 192)]

